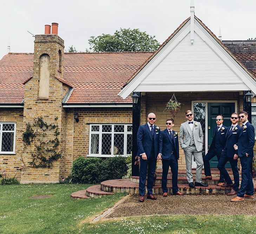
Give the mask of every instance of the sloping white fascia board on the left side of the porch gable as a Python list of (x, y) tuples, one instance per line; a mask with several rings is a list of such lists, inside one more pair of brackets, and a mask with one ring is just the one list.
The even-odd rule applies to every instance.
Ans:
[(180, 28), (173, 38), (154, 56), (149, 63), (118, 93), (123, 99), (132, 92), (145, 92), (137, 90), (140, 83), (159, 65), (160, 62), (190, 33), (190, 20)]

